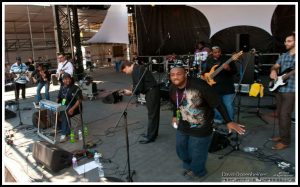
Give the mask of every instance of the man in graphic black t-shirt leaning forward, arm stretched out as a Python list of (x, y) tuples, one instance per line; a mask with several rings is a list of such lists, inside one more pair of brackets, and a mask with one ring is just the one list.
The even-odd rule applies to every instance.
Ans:
[(173, 104), (172, 123), (177, 125), (176, 152), (183, 161), (183, 175), (197, 179), (207, 171), (205, 164), (211, 142), (214, 108), (222, 114), (229, 132), (244, 134), (244, 126), (233, 122), (212, 87), (201, 79), (188, 78), (185, 69), (177, 65), (170, 71)]

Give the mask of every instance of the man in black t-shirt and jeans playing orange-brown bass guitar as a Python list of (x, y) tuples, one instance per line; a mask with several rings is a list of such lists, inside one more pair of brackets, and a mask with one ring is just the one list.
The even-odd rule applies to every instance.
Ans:
[[(228, 58), (222, 55), (221, 48), (219, 46), (212, 47), (212, 56), (207, 59), (206, 69), (202, 75), (202, 79), (207, 81), (210, 86), (214, 87), (220, 95), (221, 100), (227, 109), (230, 120), (234, 119), (234, 104), (232, 101), (235, 94), (235, 88), (233, 78), (237, 73), (237, 68), (235, 63), (229, 62), (236, 60), (241, 54), (242, 51), (235, 54), (235, 56), (228, 60)], [(219, 66), (219, 68), (215, 70), (217, 66)], [(215, 110), (214, 120), (217, 123), (223, 122), (223, 118), (217, 110)]]

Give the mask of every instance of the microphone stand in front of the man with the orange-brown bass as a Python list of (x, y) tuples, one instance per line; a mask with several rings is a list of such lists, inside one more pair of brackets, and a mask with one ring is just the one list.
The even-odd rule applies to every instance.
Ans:
[[(234, 102), (236, 96), (238, 96), (238, 104), (237, 104), (237, 123), (240, 123), (240, 107), (241, 107), (241, 83), (244, 79), (244, 75), (247, 69), (247, 66), (249, 64), (249, 58), (246, 58), (246, 65), (245, 68), (243, 69), (243, 73), (240, 77), (240, 80), (238, 82), (238, 89), (237, 92), (235, 93), (232, 102)], [(240, 142), (239, 142), (239, 134), (237, 132), (235, 132), (235, 138), (232, 138), (232, 140), (235, 141), (235, 145), (230, 144), (230, 146), (232, 147), (232, 150), (229, 151), (228, 153), (225, 153), (224, 155), (220, 156), (219, 159), (224, 158), (225, 156), (231, 154), (234, 151), (239, 151), (240, 150)]]

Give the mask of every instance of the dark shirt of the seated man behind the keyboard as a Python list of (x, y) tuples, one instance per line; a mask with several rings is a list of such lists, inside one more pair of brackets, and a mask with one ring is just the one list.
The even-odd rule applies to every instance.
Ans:
[[(76, 101), (78, 101), (78, 99), (81, 99), (81, 98), (82, 98), (82, 91), (80, 90), (80, 88), (78, 86), (76, 86), (74, 84), (69, 85), (67, 87), (61, 86), (60, 90), (58, 92), (58, 96), (57, 96), (58, 103), (62, 103), (62, 100), (66, 99), (65, 105), (68, 107), (67, 111), (75, 105), (75, 103), (76, 103)], [(73, 99), (73, 101), (72, 101), (72, 99)], [(71, 102), (71, 104), (69, 105), (70, 102)], [(81, 103), (80, 103), (80, 108), (82, 109)], [(80, 113), (80, 111), (79, 111), (79, 107), (78, 107), (74, 110), (73, 116), (76, 114), (79, 114), (79, 113)]]

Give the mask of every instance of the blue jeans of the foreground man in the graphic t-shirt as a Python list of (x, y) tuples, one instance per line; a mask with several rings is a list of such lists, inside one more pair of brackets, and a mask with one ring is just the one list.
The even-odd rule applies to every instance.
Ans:
[(177, 130), (176, 152), (180, 160), (183, 161), (183, 168), (192, 170), (199, 177), (206, 175), (205, 164), (210, 143), (211, 135), (195, 137)]

